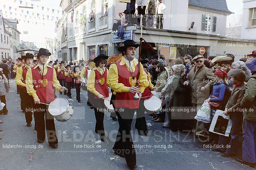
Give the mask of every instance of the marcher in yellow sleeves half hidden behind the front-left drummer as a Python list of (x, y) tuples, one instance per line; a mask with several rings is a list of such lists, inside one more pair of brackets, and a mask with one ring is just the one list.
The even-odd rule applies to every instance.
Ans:
[[(33, 108), (34, 99), (32, 96), (27, 94), (26, 74), (27, 74), (27, 70), (29, 70), (29, 68), (32, 67), (33, 58), (34, 58), (33, 54), (27, 53), (25, 55), (25, 66), (22, 66), (19, 69), (17, 69), (17, 75), (15, 78), (16, 84), (20, 86), (20, 96), (22, 96), (22, 100), (25, 101), (24, 105), (25, 105), (25, 118), (27, 122), (27, 127), (31, 126), (31, 122), (32, 122), (31, 109)], [(35, 119), (35, 131), (37, 131), (35, 114), (34, 114), (34, 119)]]

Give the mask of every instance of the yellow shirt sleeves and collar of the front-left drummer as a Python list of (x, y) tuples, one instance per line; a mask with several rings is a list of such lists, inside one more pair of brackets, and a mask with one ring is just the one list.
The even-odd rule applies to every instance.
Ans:
[[(46, 64), (47, 67), (49, 68), (52, 68), (52, 66)], [(35, 66), (33, 69), (36, 69), (38, 66)], [(47, 73), (47, 67), (44, 67), (44, 72), (43, 72), (43, 75), (46, 75)], [(29, 70), (27, 70), (27, 75), (26, 75), (26, 88), (27, 88), (27, 93), (30, 95), (30, 96), (33, 96), (34, 99), (37, 99), (38, 96), (36, 94), (36, 90), (34, 89), (34, 84), (33, 84), (33, 76), (32, 76), (32, 71), (31, 71), (32, 68), (29, 68)], [(43, 69), (41, 67), (39, 67), (39, 69), (41, 71), (43, 71)], [(61, 86), (60, 86), (60, 83), (59, 81), (57, 80), (57, 75), (56, 75), (56, 71), (55, 69), (53, 69), (53, 87), (57, 90), (57, 91), (60, 91), (61, 89)]]

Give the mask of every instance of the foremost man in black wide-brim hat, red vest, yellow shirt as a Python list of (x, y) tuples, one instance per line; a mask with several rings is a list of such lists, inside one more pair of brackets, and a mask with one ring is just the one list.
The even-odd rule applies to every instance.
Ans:
[[(132, 147), (131, 123), (134, 112), (139, 108), (139, 100), (133, 99), (135, 94), (141, 96), (142, 92), (148, 86), (146, 72), (142, 64), (138, 65), (135, 60), (136, 44), (133, 40), (125, 40), (118, 51), (122, 52), (122, 59), (109, 68), (110, 88), (116, 92), (114, 107), (117, 109), (119, 129), (116, 143), (113, 150), (121, 157), (125, 157), (130, 169), (136, 167), (135, 149)], [(138, 81), (138, 83), (136, 83)], [(136, 84), (139, 87), (136, 87)], [(128, 133), (128, 134), (125, 134)], [(123, 138), (124, 135), (126, 138)], [(127, 137), (128, 135), (128, 137)]]

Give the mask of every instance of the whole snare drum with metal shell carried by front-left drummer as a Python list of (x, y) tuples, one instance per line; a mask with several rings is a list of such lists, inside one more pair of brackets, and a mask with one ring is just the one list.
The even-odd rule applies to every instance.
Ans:
[(49, 105), (48, 111), (60, 122), (69, 120), (74, 112), (72, 103), (69, 103), (67, 99), (62, 97), (53, 100)]

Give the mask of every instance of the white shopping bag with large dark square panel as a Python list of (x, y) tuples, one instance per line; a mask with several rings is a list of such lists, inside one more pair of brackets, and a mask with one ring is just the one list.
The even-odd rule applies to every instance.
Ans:
[(226, 116), (222, 110), (216, 110), (209, 131), (228, 137), (231, 127), (232, 120), (229, 115)]

